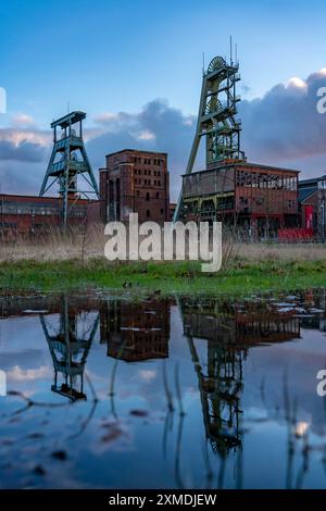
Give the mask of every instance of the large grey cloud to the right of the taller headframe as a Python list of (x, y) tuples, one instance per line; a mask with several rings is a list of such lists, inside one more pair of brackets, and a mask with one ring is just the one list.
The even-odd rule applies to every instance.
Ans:
[(276, 85), (262, 99), (242, 101), (242, 141), (250, 159), (290, 164), (321, 155), (326, 169), (326, 115), (316, 109), (317, 90), (325, 85), (326, 70), (321, 70), (305, 80)]

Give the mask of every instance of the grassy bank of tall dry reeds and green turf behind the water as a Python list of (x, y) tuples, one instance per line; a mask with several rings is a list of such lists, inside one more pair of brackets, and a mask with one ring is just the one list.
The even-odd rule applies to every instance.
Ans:
[[(326, 287), (326, 245), (238, 244), (223, 237), (223, 269), (204, 274), (193, 262), (110, 263), (103, 257), (103, 226), (37, 239), (0, 242), (0, 294), (110, 289), (138, 295), (248, 294)], [(124, 286), (125, 284), (125, 286)]]

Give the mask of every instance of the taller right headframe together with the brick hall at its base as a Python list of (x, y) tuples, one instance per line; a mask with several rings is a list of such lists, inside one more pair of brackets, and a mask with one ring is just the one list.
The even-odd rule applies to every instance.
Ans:
[[(255, 164), (241, 150), (238, 62), (215, 57), (203, 73), (196, 135), (175, 220), (218, 220), (252, 239), (297, 228), (299, 171)], [(205, 169), (193, 172), (200, 142)]]

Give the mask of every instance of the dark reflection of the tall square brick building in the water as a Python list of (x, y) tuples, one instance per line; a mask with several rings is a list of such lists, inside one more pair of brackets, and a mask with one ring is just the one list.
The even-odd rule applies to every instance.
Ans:
[(101, 342), (108, 356), (126, 362), (168, 357), (170, 302), (146, 300), (101, 303)]

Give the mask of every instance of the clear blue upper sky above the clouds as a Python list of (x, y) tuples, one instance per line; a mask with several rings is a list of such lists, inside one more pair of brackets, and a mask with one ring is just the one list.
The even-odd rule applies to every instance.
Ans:
[(166, 98), (195, 113), (205, 60), (238, 42), (243, 98), (325, 66), (322, 1), (2, 1), (9, 110), (45, 127), (72, 108), (136, 112)]

